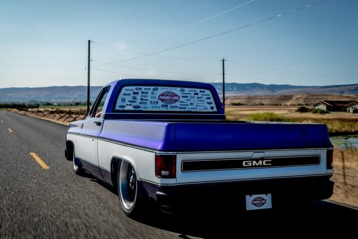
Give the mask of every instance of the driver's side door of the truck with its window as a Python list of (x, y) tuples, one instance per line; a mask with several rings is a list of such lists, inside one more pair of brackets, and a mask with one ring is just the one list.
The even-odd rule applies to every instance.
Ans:
[(81, 129), (83, 143), (77, 145), (78, 152), (76, 152), (76, 154), (82, 159), (83, 167), (97, 177), (101, 177), (96, 156), (97, 135), (102, 128), (103, 115), (101, 112), (108, 96), (109, 89), (110, 86), (101, 90), (91, 110), (89, 111), (89, 115), (84, 121)]

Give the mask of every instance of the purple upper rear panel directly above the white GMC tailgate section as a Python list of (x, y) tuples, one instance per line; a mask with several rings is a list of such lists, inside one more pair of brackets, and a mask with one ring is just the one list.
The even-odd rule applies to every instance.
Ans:
[(333, 147), (325, 124), (176, 122), (177, 151)]

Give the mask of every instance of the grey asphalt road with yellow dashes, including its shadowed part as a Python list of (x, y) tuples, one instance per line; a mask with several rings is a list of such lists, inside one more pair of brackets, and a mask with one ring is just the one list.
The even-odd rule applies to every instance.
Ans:
[[(245, 214), (222, 212), (223, 200), (179, 216), (149, 213), (128, 218), (113, 188), (73, 172), (64, 156), (66, 131), (64, 125), (0, 111), (1, 239), (292, 236), (284, 230), (296, 236), (312, 235), (314, 230), (322, 236), (331, 235), (331, 225), (338, 224), (344, 227), (335, 233), (356, 234), (358, 209), (329, 201)], [(43, 161), (42, 166), (30, 153)]]

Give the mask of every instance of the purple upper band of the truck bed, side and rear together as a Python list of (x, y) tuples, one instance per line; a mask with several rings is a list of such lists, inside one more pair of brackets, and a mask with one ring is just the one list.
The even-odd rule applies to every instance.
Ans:
[(333, 147), (327, 126), (312, 123), (106, 120), (99, 138), (177, 152)]

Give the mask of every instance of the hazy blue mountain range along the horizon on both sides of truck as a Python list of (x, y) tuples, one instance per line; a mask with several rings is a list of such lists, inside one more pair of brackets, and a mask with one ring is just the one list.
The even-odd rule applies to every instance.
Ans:
[[(212, 83), (222, 95), (222, 83)], [(95, 99), (101, 86), (90, 88), (90, 98)], [(296, 94), (358, 95), (358, 84), (335, 86), (264, 85), (259, 83), (226, 83), (225, 96), (269, 96)], [(2, 88), (0, 101), (84, 101), (87, 86), (51, 86), (37, 88)]]

